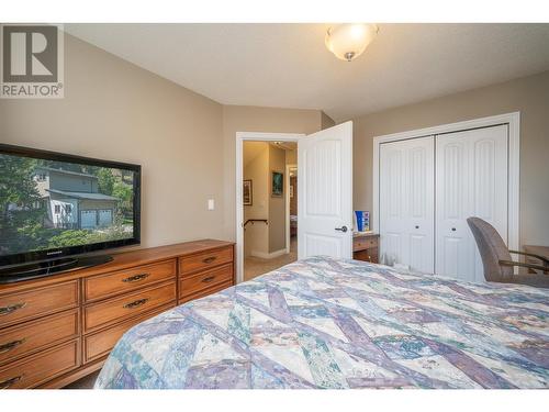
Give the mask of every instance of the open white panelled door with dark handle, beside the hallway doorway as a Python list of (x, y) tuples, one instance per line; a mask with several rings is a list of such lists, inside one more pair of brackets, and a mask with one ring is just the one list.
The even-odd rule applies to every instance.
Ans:
[(298, 257), (352, 257), (352, 122), (298, 141)]

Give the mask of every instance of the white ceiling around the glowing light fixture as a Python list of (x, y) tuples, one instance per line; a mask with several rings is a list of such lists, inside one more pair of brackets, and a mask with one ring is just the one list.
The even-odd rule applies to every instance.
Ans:
[(66, 24), (224, 104), (321, 109), (336, 121), (549, 69), (549, 24), (380, 24), (358, 59), (328, 24)]

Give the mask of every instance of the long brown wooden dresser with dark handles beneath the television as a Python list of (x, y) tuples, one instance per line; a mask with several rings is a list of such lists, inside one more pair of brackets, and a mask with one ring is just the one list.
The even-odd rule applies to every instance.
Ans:
[(234, 244), (213, 240), (0, 285), (0, 389), (61, 388), (100, 369), (132, 326), (235, 283)]

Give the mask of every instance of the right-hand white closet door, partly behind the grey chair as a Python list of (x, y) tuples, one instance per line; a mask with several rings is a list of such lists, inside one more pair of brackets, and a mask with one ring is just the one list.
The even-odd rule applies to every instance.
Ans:
[(488, 221), (507, 242), (507, 125), (437, 136), (437, 274), (484, 279), (469, 216)]

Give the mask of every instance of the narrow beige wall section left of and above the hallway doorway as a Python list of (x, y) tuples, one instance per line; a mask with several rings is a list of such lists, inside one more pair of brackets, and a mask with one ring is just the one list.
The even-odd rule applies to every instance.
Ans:
[[(236, 132), (314, 133), (322, 127), (318, 110), (223, 107), (223, 237), (236, 240), (235, 142)], [(221, 234), (220, 234), (221, 236)]]

